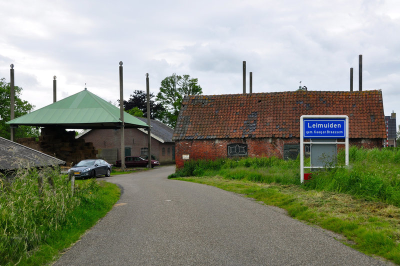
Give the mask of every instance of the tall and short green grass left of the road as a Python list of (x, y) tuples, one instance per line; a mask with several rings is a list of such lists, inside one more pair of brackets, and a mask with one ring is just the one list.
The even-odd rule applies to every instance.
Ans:
[(68, 178), (49, 168), (21, 170), (11, 182), (1, 178), (0, 185), (0, 265), (53, 261), (111, 209), (120, 193), (114, 184), (89, 179), (76, 180), (72, 196)]

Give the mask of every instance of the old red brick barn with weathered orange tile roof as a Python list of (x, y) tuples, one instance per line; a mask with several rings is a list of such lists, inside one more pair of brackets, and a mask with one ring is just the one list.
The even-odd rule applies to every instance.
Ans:
[(386, 137), (381, 90), (189, 95), (172, 136), (176, 167), (187, 157), (295, 158), (303, 114), (347, 115), (350, 145), (381, 147)]

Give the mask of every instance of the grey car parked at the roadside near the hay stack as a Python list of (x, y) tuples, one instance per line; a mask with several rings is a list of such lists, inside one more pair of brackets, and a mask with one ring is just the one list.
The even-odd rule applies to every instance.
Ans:
[(111, 174), (111, 164), (102, 159), (86, 159), (81, 160), (70, 169), (68, 173), (73, 172), (75, 177), (95, 177), (97, 175), (105, 175), (106, 177)]

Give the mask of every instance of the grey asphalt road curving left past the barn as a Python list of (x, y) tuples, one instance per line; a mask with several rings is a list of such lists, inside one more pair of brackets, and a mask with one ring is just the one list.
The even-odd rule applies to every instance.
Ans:
[(119, 201), (55, 265), (384, 264), (278, 208), (168, 180), (173, 171), (102, 178), (121, 187)]

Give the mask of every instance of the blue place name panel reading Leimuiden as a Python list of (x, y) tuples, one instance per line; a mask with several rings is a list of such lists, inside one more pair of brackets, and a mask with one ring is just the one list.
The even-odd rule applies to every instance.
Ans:
[(304, 119), (304, 138), (345, 138), (346, 119)]

